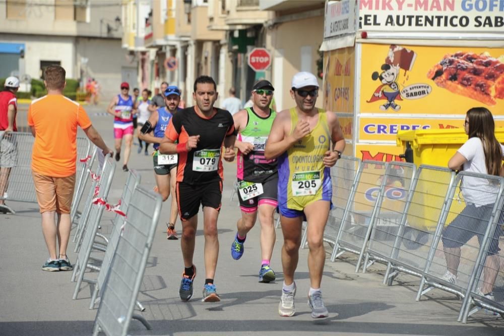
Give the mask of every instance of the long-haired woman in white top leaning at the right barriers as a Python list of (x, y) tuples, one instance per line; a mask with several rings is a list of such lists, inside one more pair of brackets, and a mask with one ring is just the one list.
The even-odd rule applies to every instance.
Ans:
[[(467, 111), (464, 129), (469, 139), (458, 149), (448, 162), (452, 170), (464, 170), (481, 174), (502, 176), (504, 147), (495, 138), (492, 114), (484, 107), (473, 107)], [(457, 281), (460, 262), (460, 247), (477, 236), (480, 245), (496, 202), (497, 187), (482, 183), (481, 179), (464, 177), (462, 195), (465, 208), (443, 231), (443, 247), (447, 272), (443, 279), (449, 283)], [(480, 191), (480, 192), (478, 192)], [(484, 284), (480, 295), (493, 300), (493, 283), (499, 270), (498, 241), (502, 227), (495, 231), (488, 246), (485, 262)]]

